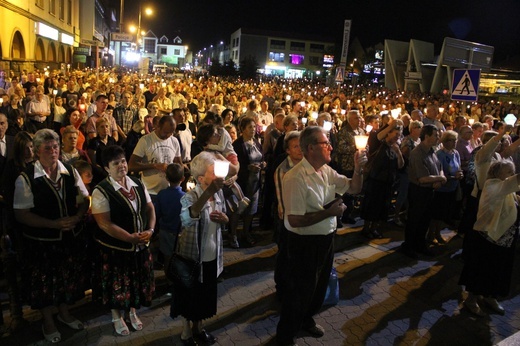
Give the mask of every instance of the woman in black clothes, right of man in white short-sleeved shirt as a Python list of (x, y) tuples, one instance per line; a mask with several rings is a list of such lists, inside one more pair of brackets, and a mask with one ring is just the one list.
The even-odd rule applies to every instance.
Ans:
[(404, 159), (397, 141), (401, 137), (400, 126), (389, 126), (379, 148), (372, 152), (365, 166), (365, 198), (361, 202), (361, 218), (365, 220), (362, 234), (369, 239), (382, 238), (378, 230), (388, 219), (390, 199), (397, 171), (404, 166)]

